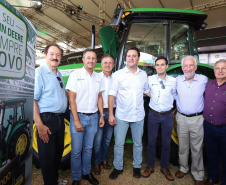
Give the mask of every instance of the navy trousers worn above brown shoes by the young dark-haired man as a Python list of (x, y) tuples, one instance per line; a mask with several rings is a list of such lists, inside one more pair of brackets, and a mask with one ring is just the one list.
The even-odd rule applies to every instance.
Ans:
[(161, 167), (168, 169), (170, 157), (170, 142), (173, 129), (173, 113), (160, 115), (149, 111), (148, 115), (148, 146), (147, 146), (147, 166), (155, 166), (156, 140), (158, 129), (162, 130)]

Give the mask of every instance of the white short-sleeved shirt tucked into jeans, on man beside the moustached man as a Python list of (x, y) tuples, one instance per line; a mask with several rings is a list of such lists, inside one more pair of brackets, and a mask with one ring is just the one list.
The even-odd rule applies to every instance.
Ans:
[(66, 89), (76, 93), (77, 112), (97, 112), (98, 94), (104, 89), (100, 74), (93, 71), (90, 76), (84, 67), (75, 70), (69, 76)]

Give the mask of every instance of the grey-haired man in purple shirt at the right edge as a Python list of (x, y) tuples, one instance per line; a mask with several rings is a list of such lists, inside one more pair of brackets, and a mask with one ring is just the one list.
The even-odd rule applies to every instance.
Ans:
[(208, 82), (205, 91), (204, 148), (208, 179), (205, 185), (219, 183), (219, 153), (221, 153), (222, 185), (226, 184), (226, 60), (214, 65), (216, 79)]

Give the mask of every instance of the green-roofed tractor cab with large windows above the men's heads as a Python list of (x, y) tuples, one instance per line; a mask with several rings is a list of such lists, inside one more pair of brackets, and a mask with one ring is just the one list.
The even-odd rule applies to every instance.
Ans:
[[(101, 28), (99, 33), (104, 52), (116, 58), (115, 70), (125, 67), (125, 51), (137, 47), (141, 52), (138, 66), (150, 76), (155, 73), (153, 66), (158, 56), (166, 57), (170, 66), (180, 64), (188, 55), (199, 61), (195, 31), (206, 27), (206, 18), (204, 12), (195, 10), (134, 8), (124, 11), (118, 5), (111, 26)], [(204, 65), (204, 68), (208, 68), (205, 75), (212, 79), (213, 72), (208, 74), (212, 67)], [(171, 70), (174, 76), (182, 74), (180, 65)], [(199, 68), (197, 73), (201, 73)]]

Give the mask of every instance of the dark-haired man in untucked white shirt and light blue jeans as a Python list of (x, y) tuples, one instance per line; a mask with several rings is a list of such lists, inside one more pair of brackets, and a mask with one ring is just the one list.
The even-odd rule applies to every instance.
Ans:
[[(123, 152), (126, 133), (131, 127), (133, 138), (133, 176), (141, 177), (142, 135), (144, 125), (143, 94), (149, 92), (147, 73), (138, 68), (140, 51), (129, 48), (126, 52), (126, 67), (113, 74), (113, 83), (109, 91), (108, 108), (109, 123), (114, 125), (114, 170), (110, 179), (116, 179), (123, 173)], [(116, 98), (116, 114), (113, 115), (114, 99)]]

